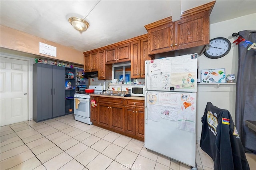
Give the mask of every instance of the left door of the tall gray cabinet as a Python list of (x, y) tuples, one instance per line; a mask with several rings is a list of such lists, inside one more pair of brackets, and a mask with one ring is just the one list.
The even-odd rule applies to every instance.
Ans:
[(37, 66), (37, 119), (40, 121), (52, 118), (53, 66), (47, 64), (37, 64)]

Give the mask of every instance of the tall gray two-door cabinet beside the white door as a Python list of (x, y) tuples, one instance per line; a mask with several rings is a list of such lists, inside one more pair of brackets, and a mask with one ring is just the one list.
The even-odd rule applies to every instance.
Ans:
[(33, 120), (65, 115), (65, 67), (33, 64)]

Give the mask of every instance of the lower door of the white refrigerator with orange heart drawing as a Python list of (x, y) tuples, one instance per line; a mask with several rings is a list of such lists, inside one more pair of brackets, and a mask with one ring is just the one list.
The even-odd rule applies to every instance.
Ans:
[(184, 164), (196, 164), (196, 93), (146, 93), (145, 147)]

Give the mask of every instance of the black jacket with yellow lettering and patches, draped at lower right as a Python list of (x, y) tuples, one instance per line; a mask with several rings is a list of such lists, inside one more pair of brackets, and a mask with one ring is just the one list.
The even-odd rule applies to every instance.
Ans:
[(214, 161), (214, 170), (250, 170), (228, 110), (208, 102), (202, 123), (200, 147)]

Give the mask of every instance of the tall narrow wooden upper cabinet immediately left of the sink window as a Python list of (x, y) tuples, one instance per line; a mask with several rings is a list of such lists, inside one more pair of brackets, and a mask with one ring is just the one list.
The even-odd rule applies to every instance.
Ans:
[(112, 64), (105, 64), (105, 51), (99, 51), (98, 80), (112, 80)]

